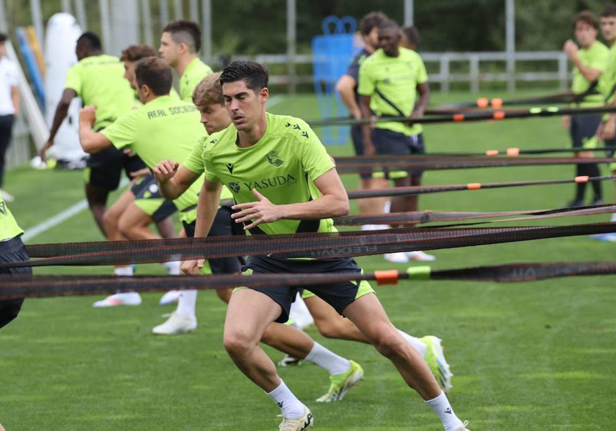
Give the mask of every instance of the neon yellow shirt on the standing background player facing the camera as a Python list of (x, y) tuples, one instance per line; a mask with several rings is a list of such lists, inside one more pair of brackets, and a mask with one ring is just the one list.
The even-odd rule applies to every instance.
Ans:
[[(383, 49), (377, 49), (363, 60), (359, 68), (357, 92), (371, 97), (370, 109), (378, 116), (400, 116), (385, 99), (405, 116), (410, 116), (415, 108), (418, 84), (428, 81), (426, 66), (419, 54), (403, 47), (399, 48), (399, 52), (398, 57), (389, 57)], [(421, 124), (407, 126), (400, 121), (376, 123), (375, 126), (407, 136), (417, 135), (423, 130)]]

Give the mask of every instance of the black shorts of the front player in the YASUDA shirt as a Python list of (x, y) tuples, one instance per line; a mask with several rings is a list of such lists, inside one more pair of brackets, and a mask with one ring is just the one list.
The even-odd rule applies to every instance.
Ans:
[[(318, 260), (289, 260), (278, 257), (251, 256), (248, 264), (242, 271), (245, 275), (251, 274), (278, 274), (278, 273), (336, 273), (355, 272), (362, 273), (362, 268), (351, 257), (338, 257), (334, 259)], [(306, 289), (325, 300), (328, 304), (342, 314), (344, 308), (355, 299), (365, 294), (374, 292), (367, 281), (345, 281), (343, 283), (310, 284), (309, 286), (278, 286), (251, 288), (261, 292), (278, 303), (282, 307), (282, 313), (277, 318), (278, 323), (289, 320), (291, 302), (295, 300), (299, 289)]]

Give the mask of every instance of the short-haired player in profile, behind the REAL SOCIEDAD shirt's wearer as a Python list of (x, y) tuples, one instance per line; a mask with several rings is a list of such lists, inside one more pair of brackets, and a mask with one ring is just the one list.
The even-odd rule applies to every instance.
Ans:
[(163, 28), (158, 54), (176, 70), (180, 81), (180, 99), (192, 102), (192, 94), (201, 79), (212, 73), (197, 53), (201, 49), (201, 29), (192, 21), (172, 21)]

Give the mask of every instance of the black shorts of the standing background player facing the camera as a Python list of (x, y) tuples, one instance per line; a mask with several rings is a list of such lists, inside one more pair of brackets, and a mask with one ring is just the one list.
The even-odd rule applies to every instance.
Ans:
[[(413, 155), (426, 153), (423, 133), (407, 136), (403, 133), (394, 132), (387, 129), (373, 129), (372, 142), (375, 145), (378, 155)], [(406, 172), (411, 177), (421, 177), (423, 171), (418, 169), (400, 169), (399, 171), (389, 171), (384, 169), (387, 178), (395, 179), (404, 177)], [(391, 174), (390, 174), (391, 173)]]

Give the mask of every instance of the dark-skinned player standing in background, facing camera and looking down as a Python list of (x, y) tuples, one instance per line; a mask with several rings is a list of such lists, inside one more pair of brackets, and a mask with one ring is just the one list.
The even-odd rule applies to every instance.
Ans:
[[(366, 58), (359, 68), (359, 93), (362, 118), (376, 116), (423, 116), (428, 106), (430, 89), (428, 74), (421, 57), (412, 50), (400, 47), (400, 30), (392, 20), (378, 26), (379, 49)], [(416, 94), (419, 100), (415, 105)], [(366, 155), (411, 155), (425, 153), (420, 124), (400, 121), (362, 126)], [(421, 171), (389, 172), (396, 187), (421, 184)], [(392, 212), (417, 211), (417, 196), (392, 198)], [(421, 251), (386, 254), (391, 262), (434, 260), (434, 256)]]

